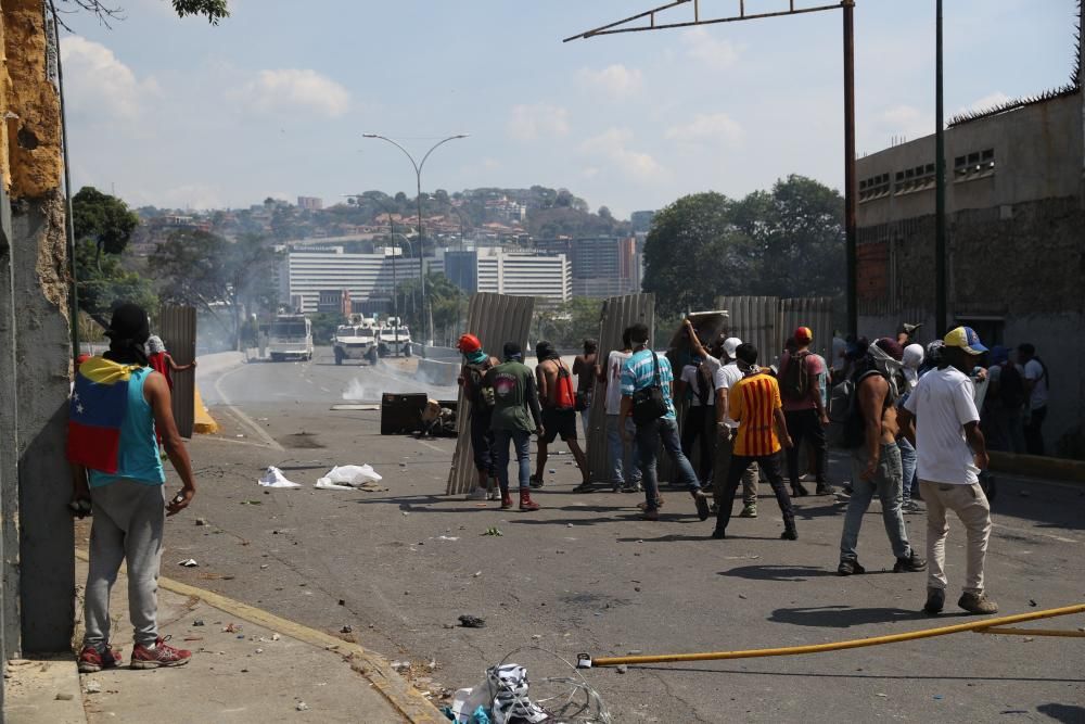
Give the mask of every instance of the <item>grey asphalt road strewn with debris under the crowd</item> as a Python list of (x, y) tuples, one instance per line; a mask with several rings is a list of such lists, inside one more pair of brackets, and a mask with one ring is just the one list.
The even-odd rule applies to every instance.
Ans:
[[(169, 522), (168, 575), (329, 632), (349, 625), (390, 658), (436, 661), (432, 673), (421, 666), (433, 679), (421, 685), (450, 689), (476, 684), (486, 666), (524, 646), (572, 659), (815, 644), (932, 625), (917, 612), (924, 574), (891, 572), (877, 504), (860, 537), (870, 572), (850, 579), (834, 574), (843, 508), (832, 498), (797, 503), (801, 538), (791, 543), (778, 539), (779, 512), (763, 490), (761, 518), (736, 520), (733, 537), (716, 542), (681, 492), (665, 493), (658, 523), (636, 519), (635, 496), (571, 493), (577, 475), (563, 455), (551, 458), (557, 482), (538, 495), (542, 511), (502, 512), (443, 495), (454, 441), (382, 437), (379, 412), (329, 409), (352, 380), (392, 384), (384, 371), (319, 361), (248, 366), (220, 382), (238, 409), (213, 408), (222, 432), (192, 442), (202, 488), (191, 515)], [(265, 391), (272, 396), (261, 401)], [(386, 475), (386, 493), (309, 487), (333, 463), (362, 462)], [(255, 481), (272, 463), (306, 487), (265, 493)], [(832, 470), (840, 481), (840, 460)], [(988, 589), (1003, 611), (1085, 601), (1085, 488), (1001, 478), (994, 509)], [(194, 526), (195, 517), (210, 525)], [(924, 518), (907, 523), (922, 546)], [(490, 526), (503, 535), (484, 536)], [(942, 624), (969, 620), (953, 606), (962, 538), (955, 524)], [(201, 568), (173, 564), (189, 557)], [(462, 613), (486, 627), (456, 626)], [(1085, 617), (1041, 625), (1077, 628)], [(958, 634), (585, 675), (615, 722), (1078, 722), (1080, 642)], [(534, 682), (569, 673), (537, 650), (511, 660)]]

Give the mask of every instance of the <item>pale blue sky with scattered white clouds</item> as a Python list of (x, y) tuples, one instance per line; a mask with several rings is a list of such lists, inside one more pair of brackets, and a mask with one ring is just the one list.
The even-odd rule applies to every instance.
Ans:
[[(230, 0), (217, 27), (116, 1), (112, 29), (67, 15), (61, 48), (73, 183), (131, 206), (413, 196), (408, 158), (363, 132), (419, 160), (470, 134), (434, 151), (423, 191), (564, 187), (618, 217), (789, 174), (843, 183), (837, 10), (562, 43), (662, 0)], [(1068, 81), (1074, 0), (945, 5), (947, 116)], [(855, 66), (860, 155), (933, 132), (934, 0), (856, 0)]]

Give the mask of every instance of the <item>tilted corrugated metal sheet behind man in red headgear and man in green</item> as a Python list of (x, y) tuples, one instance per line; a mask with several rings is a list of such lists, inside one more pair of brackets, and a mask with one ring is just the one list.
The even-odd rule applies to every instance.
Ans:
[[(467, 330), (476, 335), (483, 348), (500, 358), (506, 342), (519, 342), (527, 346), (527, 331), (535, 313), (532, 296), (510, 296), (489, 292), (471, 295), (468, 308)], [(447, 495), (467, 493), (475, 484), (478, 473), (474, 467), (474, 449), (471, 445), (471, 403), (464, 399), (460, 390), (456, 421), (456, 453), (448, 472)]]

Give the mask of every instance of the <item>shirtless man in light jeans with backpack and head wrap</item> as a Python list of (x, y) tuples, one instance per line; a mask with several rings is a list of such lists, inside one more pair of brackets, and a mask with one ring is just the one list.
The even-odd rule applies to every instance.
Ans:
[(899, 396), (899, 382), (903, 381), (903, 358), (901, 345), (882, 338), (867, 348), (866, 357), (856, 364), (852, 372), (854, 398), (848, 420), (853, 431), (848, 441), (852, 443), (852, 496), (840, 536), (840, 566), (837, 568), (840, 575), (866, 573), (859, 564), (856, 547), (863, 517), (876, 493), (881, 498), (882, 522), (896, 557), (893, 572), (922, 571), (927, 568), (927, 561), (908, 542), (901, 511), (904, 470), (901, 448), (896, 444), (901, 428), (895, 403)]

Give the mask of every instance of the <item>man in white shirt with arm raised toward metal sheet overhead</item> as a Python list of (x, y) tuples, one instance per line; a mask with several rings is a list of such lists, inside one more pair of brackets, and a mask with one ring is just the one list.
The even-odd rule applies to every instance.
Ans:
[(693, 459), (693, 444), (699, 443), (697, 475), (703, 487), (712, 483), (712, 463), (716, 450), (716, 390), (719, 389), (723, 365), (701, 344), (693, 323), (687, 319), (691, 363), (682, 367), (681, 377), (675, 384), (675, 399), (680, 399), (688, 390), (689, 406), (681, 427), (681, 452)]

